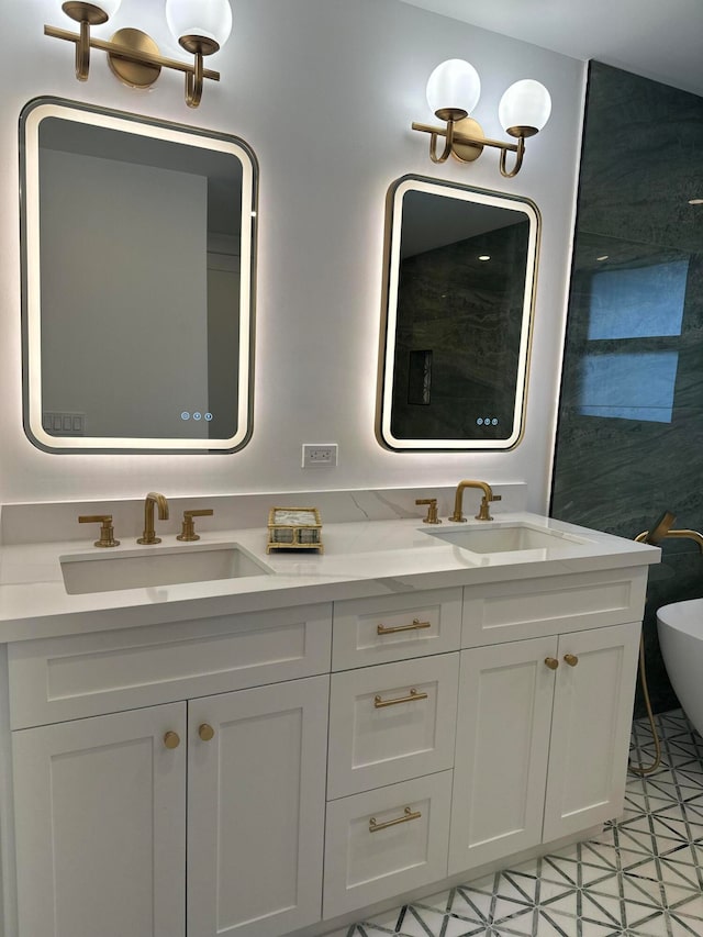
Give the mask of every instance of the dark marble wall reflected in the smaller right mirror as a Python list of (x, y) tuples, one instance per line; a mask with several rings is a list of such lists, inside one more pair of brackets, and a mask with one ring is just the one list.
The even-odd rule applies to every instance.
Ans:
[[(513, 432), (529, 224), (405, 258), (395, 333), (398, 438), (505, 439)], [(490, 261), (478, 256), (490, 255)], [(432, 354), (426, 399), (413, 355)], [(492, 416), (498, 425), (477, 425)]]

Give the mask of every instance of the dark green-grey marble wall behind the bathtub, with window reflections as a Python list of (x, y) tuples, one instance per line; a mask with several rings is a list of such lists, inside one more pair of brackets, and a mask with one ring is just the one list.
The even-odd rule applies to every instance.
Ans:
[[(694, 198), (703, 198), (703, 98), (592, 63), (557, 432), (555, 517), (634, 537), (668, 510), (677, 516), (676, 527), (703, 529), (703, 205), (690, 205)], [(603, 257), (607, 259), (598, 259)], [(649, 297), (637, 297), (629, 325), (620, 334), (589, 335), (593, 280), (600, 271), (639, 271), (654, 276), (657, 286), (656, 278), (668, 276), (677, 264), (685, 270), (680, 330), (670, 328), (674, 334), (667, 335), (667, 327), (656, 324), (656, 305), (666, 300), (654, 289)], [(594, 360), (610, 356), (617, 375), (623, 356), (637, 356), (634, 389), (627, 394), (637, 405), (650, 403), (659, 389), (652, 361), (662, 353), (676, 356), (669, 414), (665, 409), (658, 420), (643, 420), (582, 413), (585, 369)], [(666, 397), (666, 387), (662, 392)], [(609, 394), (612, 402), (625, 395), (616, 383)], [(665, 542), (662, 564), (650, 571), (645, 616), (656, 712), (678, 702), (659, 651), (656, 610), (701, 595), (703, 557), (698, 548), (690, 542)], [(636, 714), (641, 713), (639, 693)]]

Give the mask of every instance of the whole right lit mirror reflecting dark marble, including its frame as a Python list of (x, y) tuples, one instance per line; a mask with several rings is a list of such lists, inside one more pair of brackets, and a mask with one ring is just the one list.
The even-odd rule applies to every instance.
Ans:
[(538, 241), (539, 214), (527, 199), (414, 176), (391, 186), (382, 445), (517, 445)]

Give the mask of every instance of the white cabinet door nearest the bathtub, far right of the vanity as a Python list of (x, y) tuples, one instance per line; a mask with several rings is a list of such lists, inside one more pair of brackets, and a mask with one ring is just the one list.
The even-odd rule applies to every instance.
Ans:
[(623, 810), (639, 624), (559, 638), (544, 840)]

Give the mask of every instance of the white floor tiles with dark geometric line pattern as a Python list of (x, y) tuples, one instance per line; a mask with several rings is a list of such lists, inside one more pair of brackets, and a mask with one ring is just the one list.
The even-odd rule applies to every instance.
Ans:
[[(662, 763), (629, 774), (624, 816), (595, 839), (355, 924), (346, 937), (703, 937), (703, 739), (657, 716)], [(646, 720), (635, 763), (652, 760)], [(336, 935), (335, 935), (336, 937)]]

